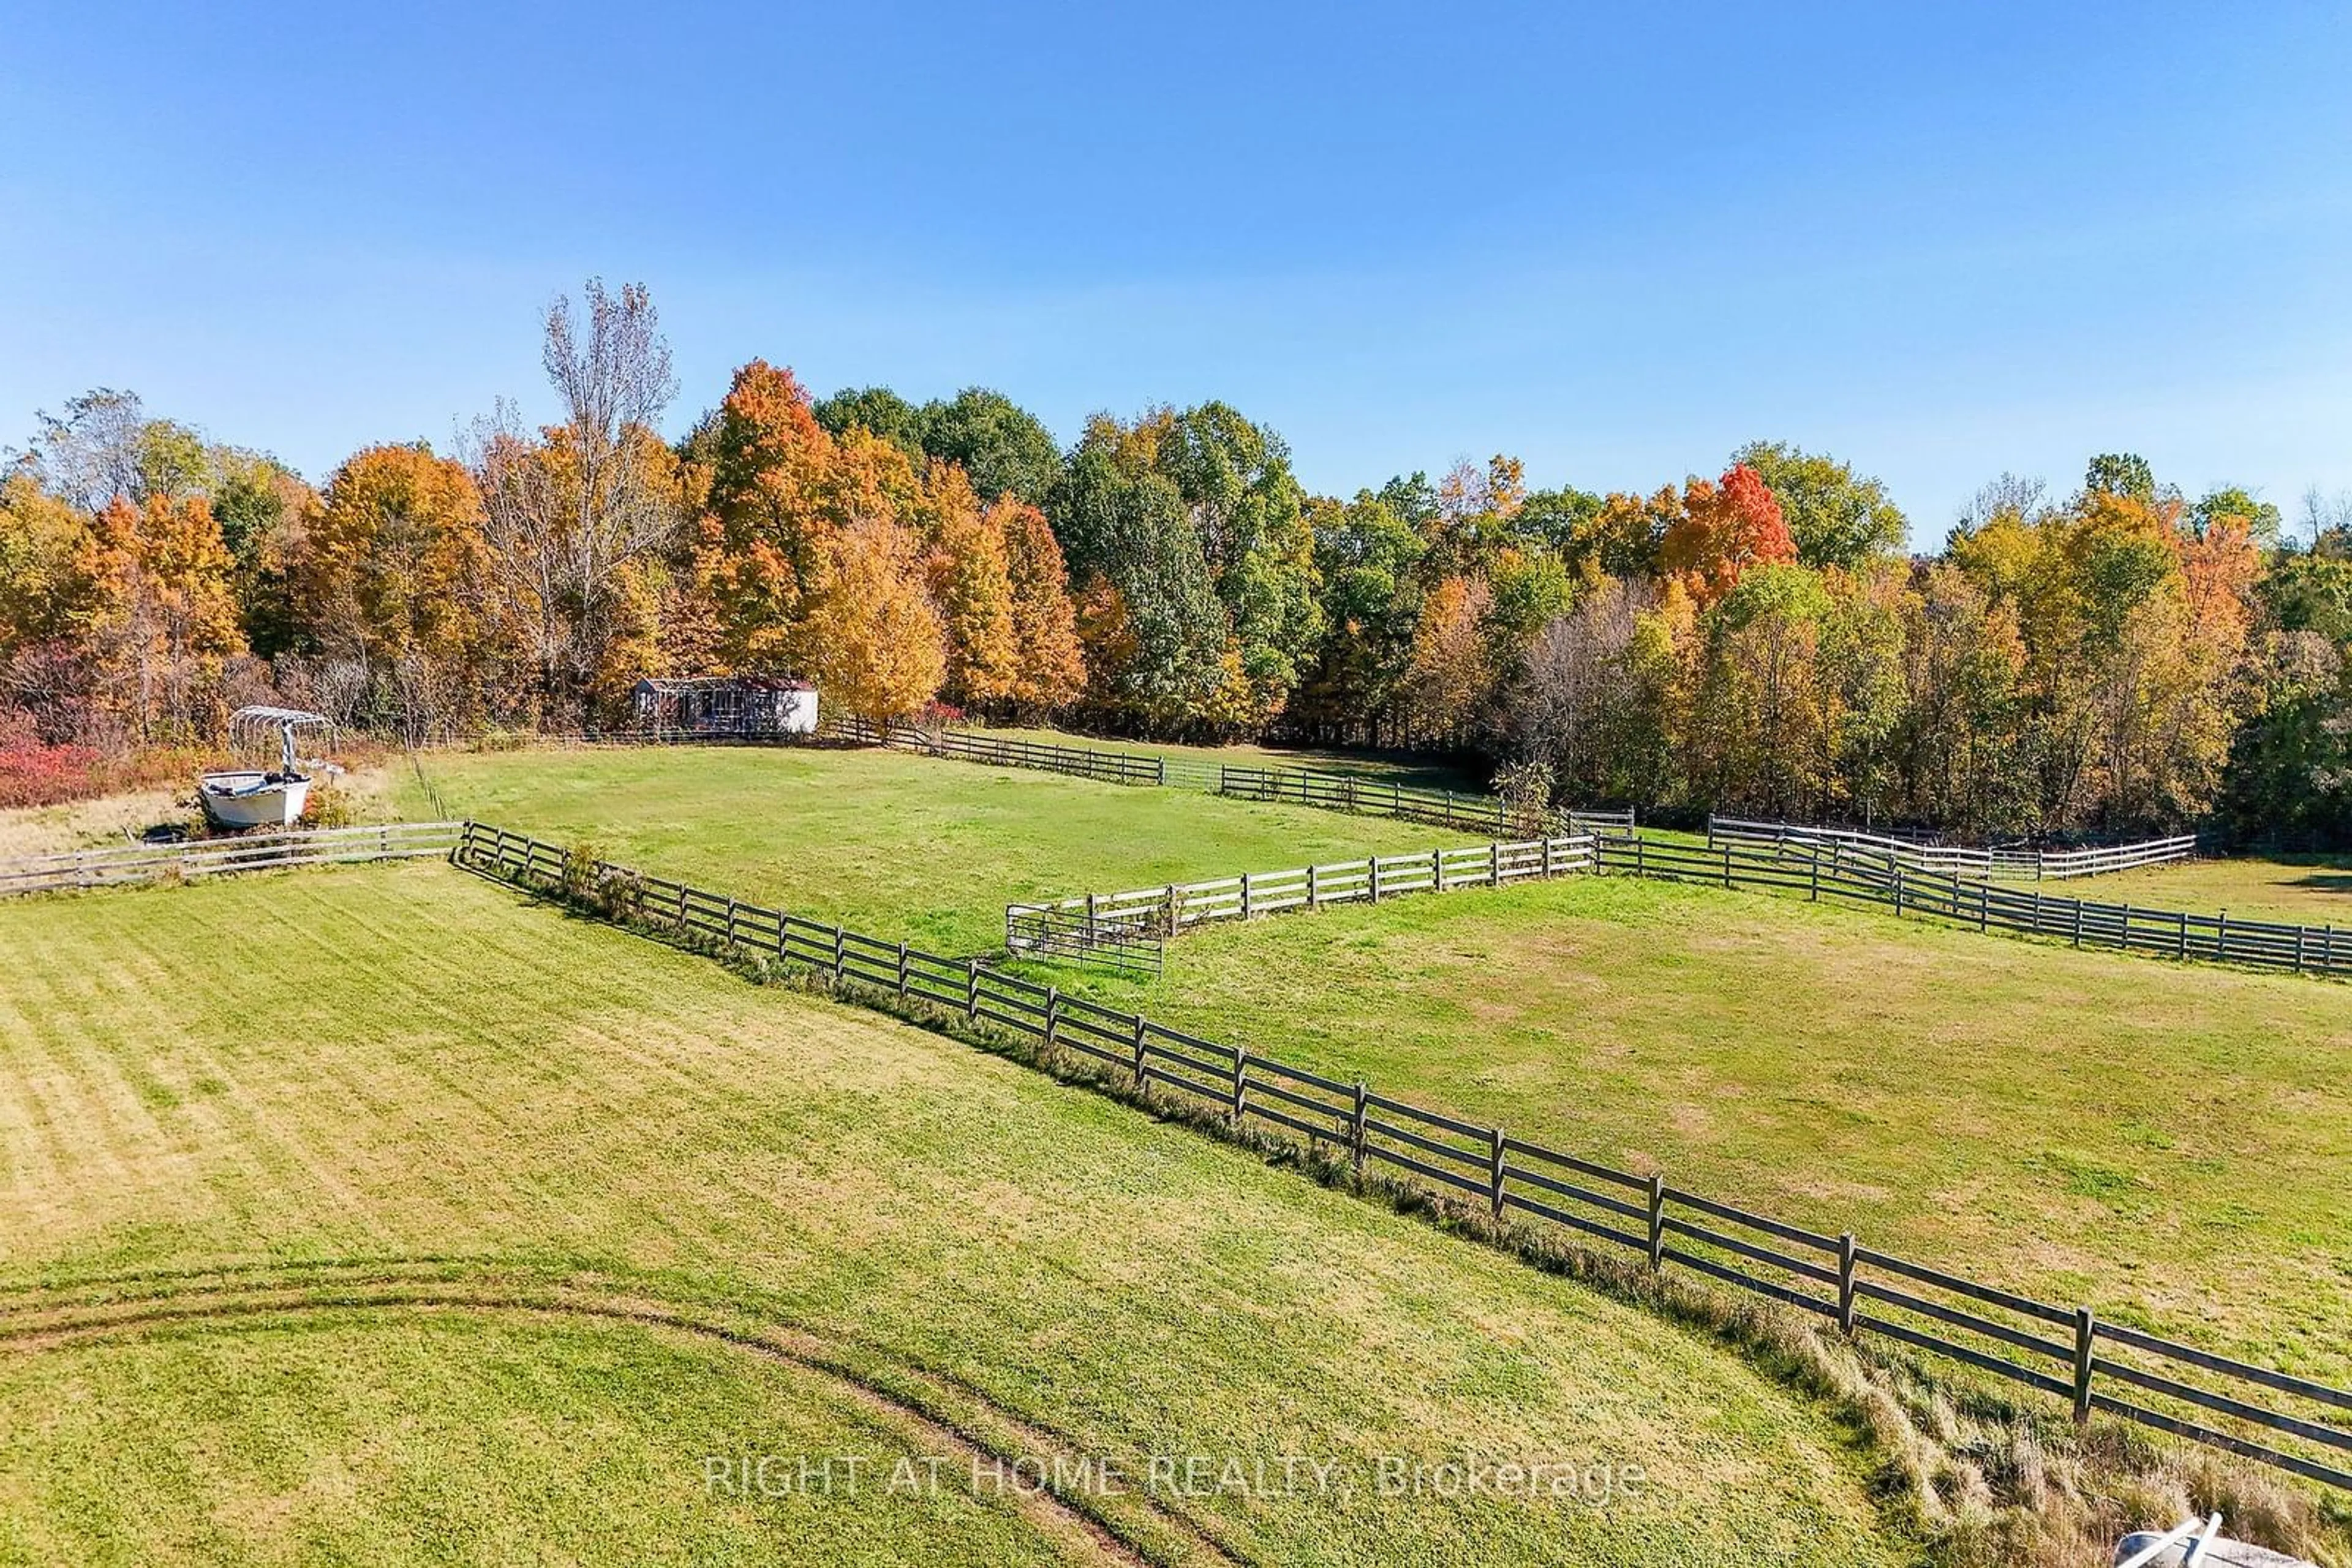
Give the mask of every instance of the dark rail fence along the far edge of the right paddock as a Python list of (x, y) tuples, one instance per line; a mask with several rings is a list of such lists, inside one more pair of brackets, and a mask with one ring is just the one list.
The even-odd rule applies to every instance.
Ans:
[(1595, 870), (1708, 886), (1750, 886), (1806, 893), (1813, 900), (1846, 898), (1896, 914), (1929, 914), (1978, 931), (2065, 938), (2077, 947), (2117, 947), (2169, 959), (2251, 964), (2305, 976), (2352, 976), (2352, 931), (2336, 926), (2286, 926), (2230, 914), (2143, 910), (2129, 903), (2093, 903), (2042, 891), (2004, 889), (1976, 877), (1919, 870), (1877, 851), (1837, 839), (1816, 844), (1724, 842), (1712, 849), (1649, 842), (1637, 835), (1602, 832), (1592, 839)]

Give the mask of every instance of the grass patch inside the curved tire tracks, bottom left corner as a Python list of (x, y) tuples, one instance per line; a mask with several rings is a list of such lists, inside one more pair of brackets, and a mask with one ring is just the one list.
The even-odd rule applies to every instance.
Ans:
[(748, 1434), (889, 1460), (922, 1436), (790, 1366), (614, 1321), (205, 1324), (0, 1354), (0, 1561), (16, 1563), (981, 1566), (1082, 1544), (962, 1488), (706, 1500), (680, 1486), (682, 1455)]

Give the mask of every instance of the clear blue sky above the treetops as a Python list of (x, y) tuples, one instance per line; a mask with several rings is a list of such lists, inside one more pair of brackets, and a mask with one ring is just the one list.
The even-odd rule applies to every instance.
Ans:
[(89, 386), (445, 444), (600, 273), (680, 430), (764, 355), (1065, 440), (1223, 397), (1329, 491), (1785, 437), (1919, 545), (2100, 449), (2352, 489), (2352, 21), (1936, 9), (21, 5), (0, 444)]

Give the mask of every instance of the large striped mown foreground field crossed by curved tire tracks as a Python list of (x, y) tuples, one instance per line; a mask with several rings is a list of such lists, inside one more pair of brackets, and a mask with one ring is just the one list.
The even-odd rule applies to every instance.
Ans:
[[(445, 865), (21, 900), (0, 976), (0, 1561), (1910, 1556), (1823, 1408), (1658, 1316)], [(701, 1462), (957, 1441), (1355, 1486)], [(1371, 1490), (1470, 1450), (1618, 1490)]]

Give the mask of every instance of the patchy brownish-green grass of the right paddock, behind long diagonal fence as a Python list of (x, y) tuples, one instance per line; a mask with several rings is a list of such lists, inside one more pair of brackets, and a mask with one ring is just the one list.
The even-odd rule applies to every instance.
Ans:
[(2199, 1345), (2352, 1373), (2352, 990), (1566, 879), (1073, 987)]

